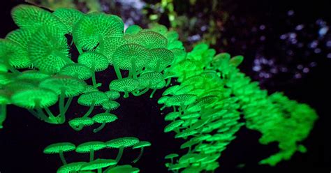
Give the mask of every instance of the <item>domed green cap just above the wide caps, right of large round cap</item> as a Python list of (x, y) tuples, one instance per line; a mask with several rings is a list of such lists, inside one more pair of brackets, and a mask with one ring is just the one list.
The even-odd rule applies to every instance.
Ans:
[(155, 48), (166, 48), (168, 45), (167, 38), (154, 31), (140, 31), (135, 37), (135, 40), (138, 40), (137, 44), (150, 50)]

